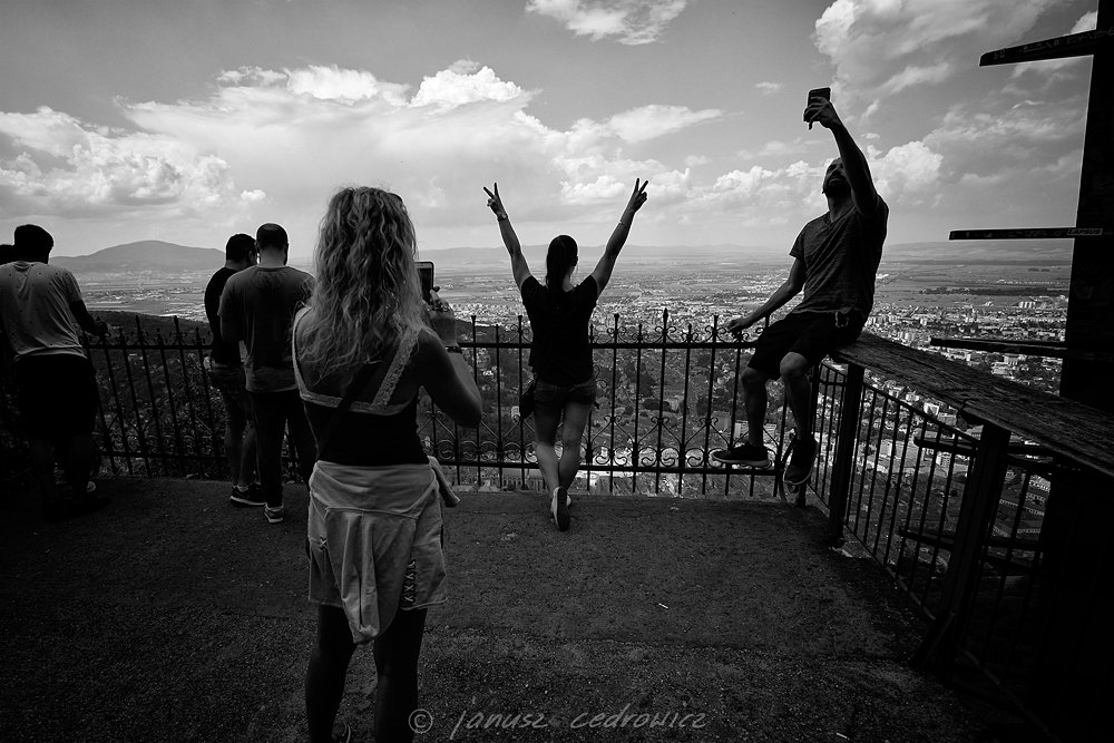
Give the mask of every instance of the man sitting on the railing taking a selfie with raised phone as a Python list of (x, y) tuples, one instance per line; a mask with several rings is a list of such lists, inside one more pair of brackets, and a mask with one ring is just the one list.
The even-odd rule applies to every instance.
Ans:
[(749, 315), (735, 317), (727, 330), (736, 338), (789, 302), (802, 289), (804, 299), (785, 317), (759, 336), (754, 354), (742, 372), (746, 407), (746, 440), (712, 456), (730, 465), (769, 467), (762, 442), (766, 411), (766, 381), (781, 377), (793, 411), (797, 437), (783, 479), (791, 487), (808, 481), (817, 454), (812, 436), (812, 389), (809, 370), (833, 349), (853, 342), (874, 302), (874, 274), (882, 256), (889, 207), (874, 190), (867, 158), (836, 114), (831, 101), (809, 99), (804, 120), (829, 129), (839, 157), (828, 166), (823, 194), (828, 213), (804, 225), (793, 250), (789, 278)]

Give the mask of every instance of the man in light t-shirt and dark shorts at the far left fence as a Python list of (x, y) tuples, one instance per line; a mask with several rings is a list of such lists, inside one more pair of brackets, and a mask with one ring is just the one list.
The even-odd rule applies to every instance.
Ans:
[[(88, 491), (99, 393), (75, 327), (104, 335), (108, 325), (89, 314), (74, 274), (47, 264), (53, 246), (55, 238), (42, 227), (21, 225), (16, 227), (14, 262), (0, 267), (0, 322), (16, 355), (19, 410), (48, 520), (108, 502)], [(66, 472), (70, 505), (55, 486), (56, 458)]]

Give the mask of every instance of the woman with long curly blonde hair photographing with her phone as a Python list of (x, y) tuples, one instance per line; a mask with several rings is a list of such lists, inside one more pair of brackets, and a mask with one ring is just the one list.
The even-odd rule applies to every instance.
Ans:
[(368, 642), (379, 677), (375, 739), (411, 740), (426, 610), (444, 602), (438, 479), (418, 439), (418, 391), (462, 426), (479, 423), (480, 395), (452, 310), (436, 292), (429, 306), (420, 295), (414, 247), (401, 198), (341, 189), (321, 222), (313, 296), (294, 321), (294, 369), (317, 439), (311, 741), (332, 740), (349, 661)]

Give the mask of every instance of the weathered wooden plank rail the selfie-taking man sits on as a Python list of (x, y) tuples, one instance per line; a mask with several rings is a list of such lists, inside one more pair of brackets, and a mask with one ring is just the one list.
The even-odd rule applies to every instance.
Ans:
[(872, 333), (863, 333), (832, 358), (907, 384), (952, 405), (968, 420), (998, 426), (1114, 478), (1114, 416), (1102, 410)]

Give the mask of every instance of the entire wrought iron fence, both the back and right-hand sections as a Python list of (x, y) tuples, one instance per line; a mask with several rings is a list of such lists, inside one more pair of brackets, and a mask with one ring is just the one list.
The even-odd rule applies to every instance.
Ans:
[[(183, 332), (176, 319), (167, 323), (166, 333), (148, 332), (137, 320), (134, 334), (120, 331), (88, 348), (101, 391), (102, 470), (224, 477), (224, 411), (203, 371), (207, 341), (196, 327)], [(459, 334), (480, 389), (482, 421), (460, 429), (423, 399), (419, 436), (458, 486), (540, 489), (532, 423), (517, 410), (529, 379), (528, 327), (521, 317), (509, 330), (475, 317), (465, 325)], [(781, 385), (770, 389), (765, 426), (775, 467), (724, 468), (710, 456), (745, 430), (739, 371), (751, 343), (726, 336), (719, 317), (678, 326), (664, 312), (648, 325), (614, 315), (593, 327), (592, 344), (600, 393), (583, 439), (580, 489), (783, 497), (780, 473), (792, 444)], [(1057, 607), (1066, 593), (1083, 596), (1072, 610), (1100, 614), (1102, 592), (1065, 593), (1064, 586), (1082, 563), (1106, 564), (1110, 556), (1095, 547), (1102, 540), (1093, 534), (1078, 536), (1091, 528), (1078, 518), (1062, 517), (1058, 535), (1049, 538), (1047, 496), (1054, 483), (1084, 497), (1108, 492), (1110, 482), (1096, 488), (1071, 462), (1010, 441), (1008, 431), (956, 420), (946, 407), (873, 379), (861, 365), (825, 362), (813, 379), (820, 446), (798, 502), (808, 495), (827, 509), (832, 545), (842, 547), (850, 536), (929, 619), (918, 663), (937, 671), (968, 664), (1049, 732), (1051, 717), (1074, 707), (1061, 701), (1051, 712), (1033, 712), (1040, 706), (1033, 700), (1047, 666), (1042, 658), (1063, 642), (1047, 627), (1075, 622)], [(20, 444), (10, 387), (2, 391), (0, 453), (8, 469)], [(286, 461), (294, 479), (294, 463)], [(1081, 557), (1087, 549), (1098, 551)], [(1097, 713), (1101, 705), (1087, 708)]]

